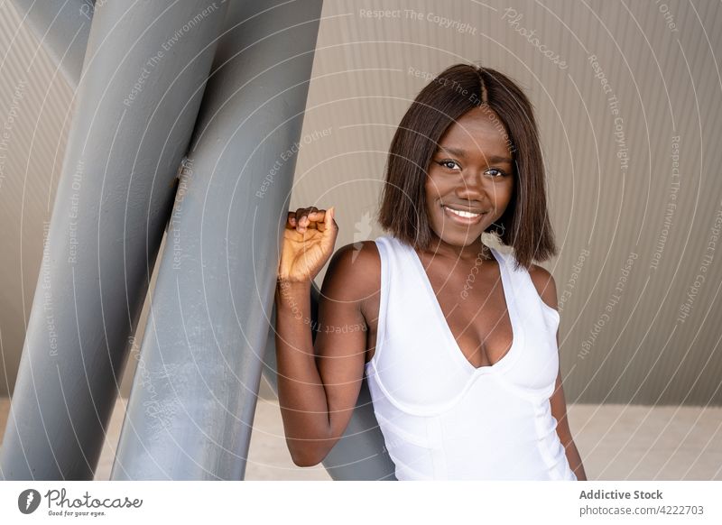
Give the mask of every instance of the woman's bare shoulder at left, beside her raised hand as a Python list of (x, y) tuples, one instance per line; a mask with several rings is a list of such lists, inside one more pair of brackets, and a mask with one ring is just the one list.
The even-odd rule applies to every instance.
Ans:
[(323, 285), (335, 291), (333, 295), (339, 299), (364, 301), (378, 292), (380, 281), (381, 257), (376, 244), (360, 241), (338, 248)]

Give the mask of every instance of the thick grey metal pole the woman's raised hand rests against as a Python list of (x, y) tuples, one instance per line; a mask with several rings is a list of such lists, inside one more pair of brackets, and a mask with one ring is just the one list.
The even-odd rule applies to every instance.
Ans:
[(320, 0), (229, 8), (114, 480), (244, 477), (320, 11)]

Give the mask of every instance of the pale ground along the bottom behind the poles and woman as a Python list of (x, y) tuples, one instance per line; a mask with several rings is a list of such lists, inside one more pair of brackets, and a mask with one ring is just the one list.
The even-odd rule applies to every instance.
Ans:
[[(322, 466), (293, 465), (278, 402), (265, 387), (261, 395), (246, 479), (330, 479)], [(116, 401), (97, 480), (110, 475), (125, 403)], [(0, 398), (0, 438), (9, 408)], [(591, 480), (722, 480), (722, 408), (570, 405), (569, 422)]]

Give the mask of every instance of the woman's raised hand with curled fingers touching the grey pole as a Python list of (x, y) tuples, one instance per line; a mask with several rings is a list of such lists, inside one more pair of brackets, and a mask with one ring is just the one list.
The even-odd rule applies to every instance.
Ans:
[(288, 213), (278, 265), (280, 281), (311, 281), (319, 274), (336, 245), (334, 211), (333, 207), (300, 207)]

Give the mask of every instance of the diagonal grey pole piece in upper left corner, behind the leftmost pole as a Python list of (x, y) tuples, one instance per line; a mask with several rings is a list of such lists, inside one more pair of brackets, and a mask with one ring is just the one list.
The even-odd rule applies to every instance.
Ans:
[(89, 0), (14, 0), (15, 8), (60, 67), (70, 87), (78, 87), (94, 5)]

